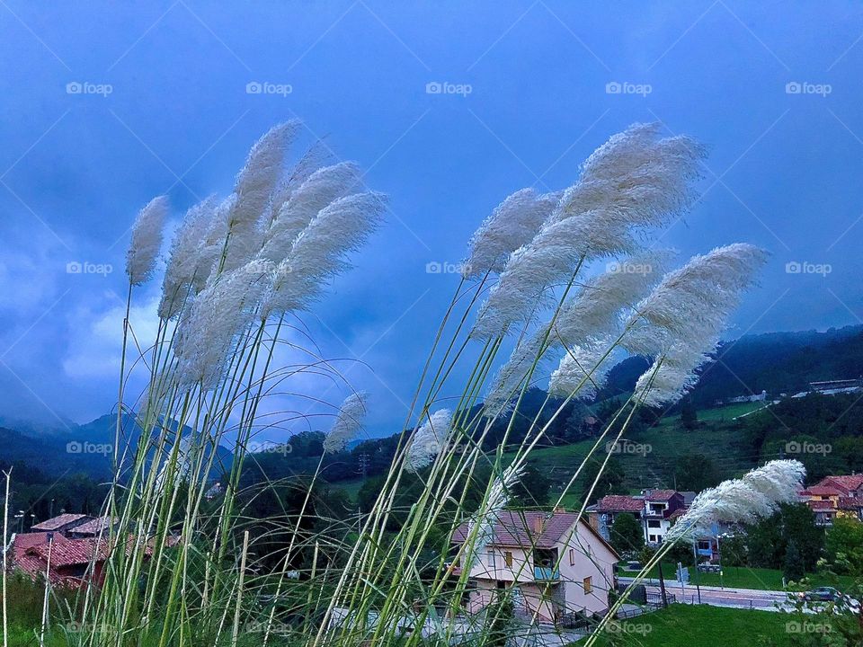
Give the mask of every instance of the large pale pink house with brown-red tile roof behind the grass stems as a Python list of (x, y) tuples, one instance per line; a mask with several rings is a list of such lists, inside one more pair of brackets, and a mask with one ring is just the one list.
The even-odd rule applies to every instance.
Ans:
[[(458, 549), (469, 536), (458, 527)], [(499, 513), (491, 541), (470, 566), (467, 610), (476, 613), (494, 601), (497, 589), (513, 589), (516, 613), (540, 622), (560, 622), (574, 613), (601, 614), (614, 588), (619, 555), (578, 515), (556, 510)]]

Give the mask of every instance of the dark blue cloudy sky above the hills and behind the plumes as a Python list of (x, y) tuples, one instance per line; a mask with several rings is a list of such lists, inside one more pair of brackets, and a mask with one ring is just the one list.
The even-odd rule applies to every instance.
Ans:
[[(512, 191), (571, 184), (634, 121), (710, 150), (704, 195), (663, 244), (773, 253), (729, 337), (863, 315), (859, 3), (14, 1), (0, 25), (6, 416), (111, 408), (136, 211), (164, 192), (177, 216), (225, 195), (254, 139), (295, 117), (391, 199), (355, 269), (304, 316), (371, 393), (372, 433), (404, 419), (457, 283), (427, 264), (461, 259)], [(433, 83), (469, 87), (428, 93)], [(74, 262), (114, 271), (68, 273)], [(795, 262), (812, 265), (788, 271)], [(138, 293), (143, 338), (154, 299)]]

